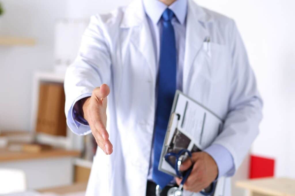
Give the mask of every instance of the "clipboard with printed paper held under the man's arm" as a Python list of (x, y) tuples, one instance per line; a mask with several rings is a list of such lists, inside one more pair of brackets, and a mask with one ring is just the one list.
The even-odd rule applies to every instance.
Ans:
[(177, 90), (158, 169), (176, 176), (174, 168), (165, 160), (165, 155), (168, 152), (178, 153), (182, 149), (191, 152), (203, 150), (221, 132), (222, 125), (222, 119), (216, 114)]

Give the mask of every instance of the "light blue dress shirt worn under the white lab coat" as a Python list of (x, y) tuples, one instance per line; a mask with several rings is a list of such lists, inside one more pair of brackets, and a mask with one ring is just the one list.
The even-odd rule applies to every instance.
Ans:
[[(179, 90), (182, 90), (182, 82), (183, 82), (183, 62), (184, 62), (184, 54), (185, 54), (185, 39), (186, 39), (186, 14), (187, 14), (187, 0), (177, 0), (170, 6), (166, 6), (162, 2), (158, 0), (142, 0), (144, 9), (146, 12), (146, 16), (149, 22), (150, 30), (152, 39), (154, 40), (154, 51), (156, 57), (156, 66), (157, 70), (159, 68), (159, 58), (160, 58), (160, 35), (162, 31), (162, 19), (161, 15), (163, 14), (164, 10), (169, 7), (174, 14), (175, 17), (172, 19), (171, 23), (174, 27), (175, 31), (175, 40), (176, 40), (176, 60), (177, 60), (177, 67), (176, 67), (176, 87)], [(87, 126), (89, 127), (88, 123), (80, 117), (78, 114), (79, 112), (75, 111), (74, 105), (77, 101), (84, 97), (91, 96), (91, 93), (86, 93), (78, 97), (72, 104), (70, 109), (71, 116), (73, 122), (75, 122), (76, 127), (80, 126)], [(153, 147), (153, 145), (152, 145)], [(151, 150), (153, 153), (153, 149)], [(217, 167), (218, 167), (218, 176), (230, 176), (235, 171), (234, 168), (234, 161), (230, 152), (219, 144), (213, 144), (208, 148), (204, 149), (204, 152), (207, 152), (211, 157), (215, 160)], [(148, 172), (148, 180), (152, 180), (152, 173), (153, 173), (153, 154), (151, 155), (150, 159), (150, 169)]]

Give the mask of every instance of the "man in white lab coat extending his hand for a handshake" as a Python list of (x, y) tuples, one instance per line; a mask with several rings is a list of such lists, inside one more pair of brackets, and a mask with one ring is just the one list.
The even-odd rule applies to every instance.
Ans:
[[(184, 195), (225, 177), (222, 195), (258, 134), (262, 100), (232, 19), (193, 0), (135, 0), (91, 17), (65, 76), (71, 130), (98, 147), (86, 195), (165, 195), (181, 179), (158, 171), (176, 89), (224, 120), (193, 164)], [(108, 119), (108, 120), (107, 120)]]

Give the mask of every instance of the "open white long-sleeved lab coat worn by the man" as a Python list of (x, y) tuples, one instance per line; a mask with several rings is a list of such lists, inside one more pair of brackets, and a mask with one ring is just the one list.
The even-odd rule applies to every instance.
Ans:
[[(204, 42), (208, 37), (209, 44)], [(213, 143), (229, 150), (236, 170), (258, 134), (262, 116), (262, 100), (237, 27), (232, 19), (189, 0), (185, 47), (183, 92), (225, 120)], [(73, 124), (71, 106), (82, 94), (108, 84), (107, 130), (113, 153), (97, 150), (86, 195), (145, 195), (155, 119), (155, 63), (140, 0), (91, 18), (78, 57), (66, 73), (65, 113), (73, 132), (89, 133)], [(224, 195), (229, 196), (229, 178), (225, 184)]]

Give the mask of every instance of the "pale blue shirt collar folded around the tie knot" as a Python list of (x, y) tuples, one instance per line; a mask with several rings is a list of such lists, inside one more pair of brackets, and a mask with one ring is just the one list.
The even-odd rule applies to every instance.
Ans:
[(173, 11), (178, 21), (183, 24), (187, 13), (187, 0), (176, 0), (170, 6), (159, 0), (142, 0), (145, 13), (157, 24), (166, 8)]

